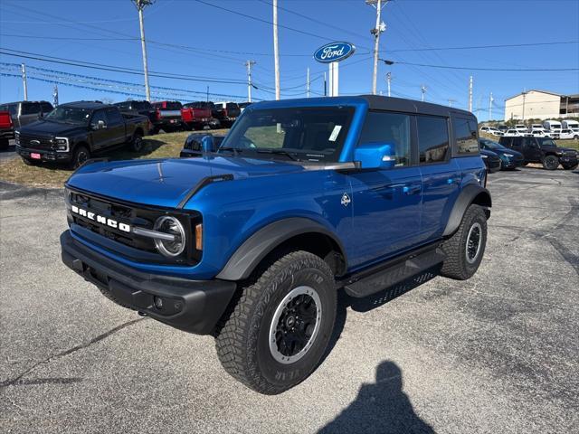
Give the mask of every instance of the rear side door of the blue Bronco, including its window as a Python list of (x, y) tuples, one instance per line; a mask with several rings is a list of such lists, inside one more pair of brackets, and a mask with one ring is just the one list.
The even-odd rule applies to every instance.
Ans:
[[(471, 137), (468, 119), (455, 118), (453, 123), (460, 125), (463, 134)], [(422, 240), (430, 241), (442, 235), (458, 197), (460, 166), (451, 158), (449, 118), (418, 115), (416, 129), (422, 175)], [(476, 153), (473, 155), (478, 156), (476, 130), (474, 140)]]

